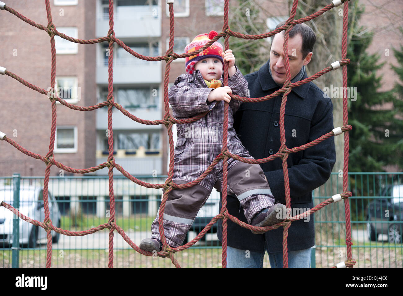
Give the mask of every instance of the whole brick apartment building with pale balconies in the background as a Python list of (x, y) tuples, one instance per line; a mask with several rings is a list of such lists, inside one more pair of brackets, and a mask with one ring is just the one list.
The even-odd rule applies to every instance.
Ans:
[[(276, 23), (289, 15), (289, 6), (283, 1), (261, 0), (258, 10), (266, 17), (266, 24), (273, 29)], [(402, 4), (392, 1), (377, 8), (365, 0), (369, 16), (361, 22), (372, 25), (373, 19), (386, 21), (391, 9), (402, 11)], [(386, 4), (386, 1), (382, 1)], [(53, 22), (58, 31), (79, 39), (94, 39), (106, 36), (109, 29), (108, 0), (51, 0)], [(43, 0), (8, 0), (7, 5), (29, 19), (47, 25)], [(389, 8), (391, 7), (391, 8)], [(239, 6), (231, 0), (230, 20), (239, 10), (248, 13), (252, 7)], [(255, 7), (256, 8), (256, 7)], [(50, 87), (50, 38), (49, 35), (15, 17), (0, 11), (0, 66), (43, 89)], [(222, 31), (224, 24), (224, 0), (175, 0), (174, 52), (183, 53), (185, 46), (200, 33)], [(401, 15), (401, 14), (399, 14)], [(378, 32), (370, 52), (385, 52), (382, 61), (394, 61), (391, 48), (401, 44), (397, 27), (401, 18), (393, 22), (385, 35)], [(383, 27), (382, 27), (383, 28)], [(384, 29), (385, 29), (384, 28)], [(169, 40), (169, 12), (166, 0), (114, 0), (114, 32), (132, 50), (145, 56), (164, 55)], [(383, 37), (382, 37), (383, 36)], [(378, 46), (382, 40), (384, 48)], [(223, 39), (219, 40), (222, 44)], [(253, 42), (253, 41), (251, 41)], [(268, 48), (270, 40), (268, 40)], [(91, 45), (71, 43), (56, 37), (56, 89), (59, 96), (77, 106), (91, 106), (106, 101), (108, 94), (108, 42)], [(236, 56), (236, 53), (235, 53)], [(268, 56), (262, 56), (262, 63)], [(147, 62), (131, 56), (114, 44), (113, 83), (114, 99), (131, 114), (146, 120), (162, 119), (163, 79), (165, 61)], [(169, 83), (184, 72), (185, 60), (171, 63)], [(384, 75), (385, 87), (393, 80), (388, 65), (380, 72)], [(8, 77), (0, 77), (0, 131), (24, 148), (46, 155), (49, 150), (51, 127), (51, 104), (46, 95), (25, 87)], [(75, 111), (57, 103), (57, 130), (55, 159), (66, 166), (89, 168), (108, 157), (107, 108), (96, 111)], [(114, 108), (113, 111), (114, 157), (130, 174), (160, 176), (167, 173), (168, 139), (163, 125), (139, 124)], [(45, 164), (24, 155), (8, 143), (0, 143), (0, 174), (10, 176), (19, 172), (22, 176), (41, 176)], [(114, 169), (116, 174), (120, 174)], [(52, 166), (51, 176), (69, 174)], [(108, 174), (108, 169), (94, 174)]]

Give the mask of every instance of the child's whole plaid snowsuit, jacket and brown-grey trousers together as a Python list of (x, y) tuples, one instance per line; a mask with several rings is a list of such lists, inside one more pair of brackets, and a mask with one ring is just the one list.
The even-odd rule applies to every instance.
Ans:
[[(232, 93), (249, 97), (247, 81), (241, 71), (229, 78)], [(179, 76), (169, 89), (169, 102), (175, 118), (185, 119), (199, 113), (210, 112), (192, 123), (177, 124), (178, 140), (174, 151), (173, 181), (185, 184), (199, 178), (221, 153), (224, 121), (224, 101), (207, 100), (210, 91), (199, 70), (193, 75)], [(233, 128), (233, 114), (241, 101), (231, 100), (228, 119), (228, 148), (233, 154), (253, 159), (239, 141)], [(194, 222), (199, 209), (208, 199), (211, 190), (222, 186), (221, 161), (212, 172), (191, 188), (172, 190), (164, 211), (164, 234), (170, 246), (179, 246)], [(260, 210), (274, 204), (264, 173), (258, 164), (245, 164), (228, 160), (228, 192), (235, 193), (243, 206), (245, 217), (251, 222)], [(151, 238), (160, 238), (158, 214), (152, 224)]]

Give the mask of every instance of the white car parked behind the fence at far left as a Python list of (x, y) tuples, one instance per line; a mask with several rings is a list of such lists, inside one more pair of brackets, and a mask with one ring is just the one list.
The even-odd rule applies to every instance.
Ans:
[[(0, 188), (0, 201), (13, 205), (14, 191), (11, 186)], [(48, 192), (50, 219), (53, 225), (60, 227), (60, 211), (56, 200)], [(33, 220), (43, 222), (45, 219), (43, 188), (24, 186), (20, 188), (19, 211)], [(13, 242), (13, 220), (17, 216), (5, 207), (0, 207), (0, 247), (11, 246)], [(46, 231), (19, 218), (19, 242), (23, 246), (33, 248), (38, 240), (46, 238)], [(52, 242), (57, 242), (59, 233), (52, 231)]]

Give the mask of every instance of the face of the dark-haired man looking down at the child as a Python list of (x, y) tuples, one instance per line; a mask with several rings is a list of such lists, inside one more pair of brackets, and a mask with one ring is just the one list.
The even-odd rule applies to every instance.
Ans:
[[(278, 84), (283, 84), (286, 79), (283, 43), (284, 32), (281, 32), (274, 36), (272, 48), (270, 49), (270, 70), (272, 71), (273, 80)], [(302, 58), (301, 49), (301, 34), (297, 34), (293, 38), (288, 39), (288, 59), (290, 63), (291, 79), (298, 74), (302, 66), (307, 65), (311, 61), (312, 52), (305, 58)]]

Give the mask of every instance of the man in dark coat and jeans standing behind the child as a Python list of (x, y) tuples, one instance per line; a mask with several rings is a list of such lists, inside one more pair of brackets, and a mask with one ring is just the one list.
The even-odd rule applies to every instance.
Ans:
[[(284, 25), (280, 23), (277, 27)], [(280, 89), (286, 80), (283, 52), (284, 31), (272, 39), (270, 60), (257, 72), (246, 75), (250, 97), (264, 97)], [(305, 65), (312, 58), (316, 41), (314, 31), (298, 24), (289, 33), (288, 57), (291, 82), (307, 77)], [(234, 118), (234, 127), (242, 144), (256, 159), (269, 157), (280, 149), (280, 105), (282, 95), (268, 101), (243, 103)], [(285, 107), (285, 138), (288, 148), (309, 143), (333, 129), (333, 105), (314, 83), (294, 87), (287, 96)], [(328, 180), (336, 153), (334, 138), (304, 151), (290, 153), (287, 159), (291, 215), (303, 213), (313, 207), (312, 190)], [(282, 159), (262, 164), (262, 169), (276, 203), (286, 204)], [(227, 197), (231, 215), (245, 221), (238, 200)], [(218, 225), (222, 239), (222, 225)], [(263, 235), (251, 234), (228, 220), (227, 267), (262, 267), (267, 250), (271, 267), (283, 267), (283, 227)], [(311, 247), (315, 244), (313, 215), (294, 221), (288, 230), (289, 267), (310, 267)]]

